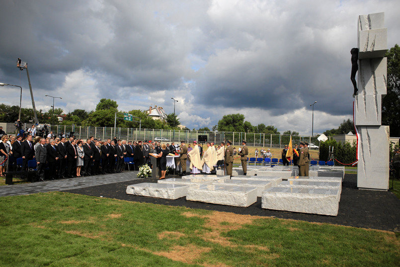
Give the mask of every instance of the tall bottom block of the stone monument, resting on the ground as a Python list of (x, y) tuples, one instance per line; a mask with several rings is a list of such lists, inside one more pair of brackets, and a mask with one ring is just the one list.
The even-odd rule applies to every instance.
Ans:
[(358, 126), (357, 187), (389, 189), (389, 126)]

